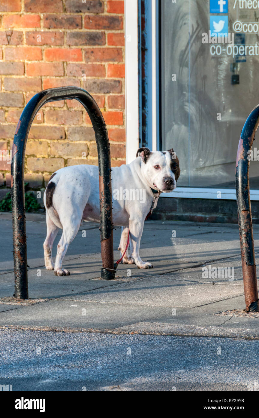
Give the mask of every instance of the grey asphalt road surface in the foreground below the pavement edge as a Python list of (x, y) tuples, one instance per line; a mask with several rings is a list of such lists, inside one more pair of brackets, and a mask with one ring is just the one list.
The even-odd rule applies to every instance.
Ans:
[(6, 329), (0, 347), (13, 391), (259, 390), (258, 340)]

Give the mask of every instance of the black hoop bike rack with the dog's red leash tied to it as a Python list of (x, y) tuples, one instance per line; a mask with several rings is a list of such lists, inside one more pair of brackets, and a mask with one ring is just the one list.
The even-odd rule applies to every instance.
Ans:
[(43, 104), (56, 100), (76, 99), (85, 107), (93, 124), (99, 166), (100, 231), (103, 268), (101, 276), (113, 279), (113, 221), (111, 194), (111, 153), (103, 115), (95, 100), (79, 87), (66, 86), (43, 90), (35, 94), (20, 116), (15, 131), (11, 164), (11, 195), (13, 211), (13, 256), (15, 297), (28, 299), (27, 246), (25, 232), (24, 156), (28, 133), (33, 119)]

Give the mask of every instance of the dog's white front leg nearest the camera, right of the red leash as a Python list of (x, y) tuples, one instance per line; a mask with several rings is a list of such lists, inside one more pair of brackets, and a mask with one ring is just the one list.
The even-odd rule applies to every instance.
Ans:
[(134, 219), (129, 221), (129, 230), (131, 238), (131, 255), (138, 268), (153, 268), (148, 261), (142, 261), (139, 255), (140, 240), (143, 232), (144, 219)]

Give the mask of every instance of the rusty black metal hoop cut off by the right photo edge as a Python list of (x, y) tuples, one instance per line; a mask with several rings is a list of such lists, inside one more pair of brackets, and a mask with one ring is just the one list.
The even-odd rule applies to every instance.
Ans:
[(249, 193), (249, 150), (259, 125), (259, 105), (250, 113), (244, 124), (236, 155), (236, 203), (241, 245), (242, 270), (246, 312), (259, 312), (259, 299), (254, 257), (251, 202)]

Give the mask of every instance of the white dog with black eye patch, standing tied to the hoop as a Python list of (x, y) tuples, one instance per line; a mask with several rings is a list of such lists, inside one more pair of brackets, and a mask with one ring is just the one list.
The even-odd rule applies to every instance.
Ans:
[[(122, 227), (118, 248), (121, 255), (130, 231), (131, 255), (127, 250), (122, 263), (135, 263), (138, 268), (153, 267), (139, 256), (143, 224), (150, 209), (156, 207), (160, 193), (176, 188), (179, 175), (179, 160), (173, 149), (151, 152), (148, 148), (139, 148), (136, 160), (112, 169), (113, 223)], [(70, 166), (56, 171), (45, 190), (44, 205), (45, 267), (54, 270), (55, 275), (69, 275), (69, 271), (62, 268), (62, 262), (82, 220), (100, 222), (98, 166)], [(63, 229), (63, 234), (54, 265), (51, 252), (58, 228)]]

